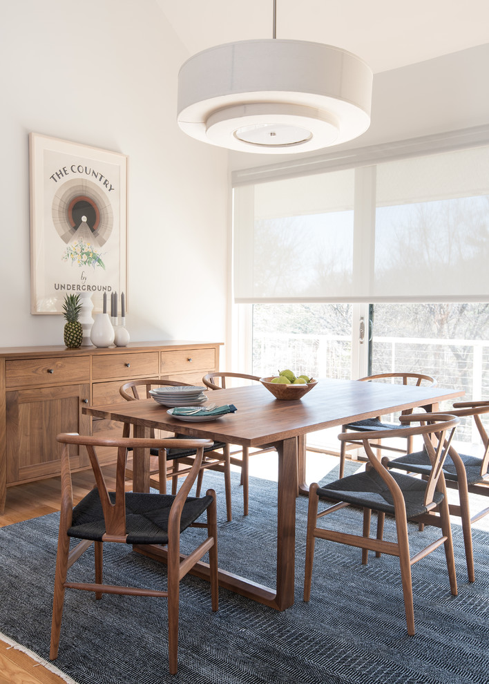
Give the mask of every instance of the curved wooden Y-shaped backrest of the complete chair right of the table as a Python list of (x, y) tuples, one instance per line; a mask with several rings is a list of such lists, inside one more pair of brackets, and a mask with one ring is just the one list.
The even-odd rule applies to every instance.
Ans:
[(435, 505), (433, 502), (434, 492), (437, 489), (440, 477), (443, 477), (443, 463), (445, 462), (455, 428), (460, 423), (460, 419), (457, 416), (448, 414), (421, 413), (401, 416), (400, 421), (405, 424), (416, 421), (420, 424), (417, 426), (398, 428), (396, 430), (388, 430), (387, 434), (385, 430), (374, 430), (367, 433), (341, 433), (341, 435), (338, 435), (338, 439), (341, 441), (355, 439), (363, 442), (363, 448), (365, 448), (365, 453), (367, 453), (370, 464), (378, 475), (381, 476), (385, 484), (387, 484), (387, 487), (392, 493), (394, 506), (396, 510), (398, 510), (398, 507), (401, 507), (401, 509), (404, 509), (405, 507), (401, 489), (394, 477), (392, 477), (392, 474), (385, 468), (382, 459), (378, 457), (374, 450), (372, 450), (370, 442), (391, 437), (422, 435), (432, 465), (432, 470), (425, 490), (424, 501), (425, 506), (430, 509), (430, 507)]

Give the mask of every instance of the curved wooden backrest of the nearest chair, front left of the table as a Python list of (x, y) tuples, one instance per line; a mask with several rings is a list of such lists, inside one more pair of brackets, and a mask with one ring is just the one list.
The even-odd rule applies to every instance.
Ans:
[[(57, 435), (56, 439), (60, 444), (63, 444), (61, 451), (61, 520), (67, 519), (70, 521), (70, 510), (73, 509), (73, 487), (71, 484), (69, 445), (76, 444), (78, 446), (85, 446), (95, 476), (95, 483), (99, 492), (102, 511), (104, 512), (106, 525), (106, 534), (104, 535), (104, 538), (106, 541), (114, 542), (124, 541), (126, 538), (126, 497), (124, 480), (128, 448), (153, 448), (158, 450), (191, 448), (196, 450), (196, 456), (191, 470), (180, 487), (173, 504), (175, 505), (176, 513), (180, 515), (186, 497), (189, 495), (193, 482), (195, 482), (195, 478), (199, 473), (204, 448), (212, 446), (213, 444), (209, 439), (141, 439), (135, 437), (111, 437), (110, 439), (103, 439), (102, 437), (90, 437), (87, 435), (78, 435), (76, 433), (60, 433)], [(113, 500), (109, 494), (104, 473), (102, 473), (97, 457), (97, 447), (117, 447), (115, 500)], [(174, 514), (173, 505), (172, 513)], [(63, 514), (68, 517), (63, 518)], [(68, 524), (70, 524), (70, 522), (68, 522)]]

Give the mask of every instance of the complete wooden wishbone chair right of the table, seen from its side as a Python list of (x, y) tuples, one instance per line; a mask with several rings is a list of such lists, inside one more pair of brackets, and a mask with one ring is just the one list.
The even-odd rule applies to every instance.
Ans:
[[(353, 435), (354, 439), (362, 441), (369, 459), (365, 472), (337, 479), (323, 487), (319, 487), (316, 483), (311, 486), (309, 489), (304, 579), (304, 600), (309, 601), (316, 538), (361, 548), (362, 564), (367, 563), (369, 550), (375, 551), (377, 557), (381, 553), (396, 555), (401, 566), (408, 634), (414, 634), (411, 566), (441, 544), (445, 546), (450, 590), (454, 596), (457, 595), (450, 515), (441, 465), (450, 446), (454, 428), (459, 424), (459, 419), (452, 415), (433, 413), (401, 416), (401, 423), (403, 424), (416, 420), (420, 421), (421, 425), (392, 430), (388, 437), (405, 437), (407, 439), (415, 435), (423, 436), (431, 463), (428, 482), (418, 477), (388, 471), (383, 466), (380, 457), (374, 453), (370, 443), (372, 439), (384, 438), (384, 433), (378, 430), (372, 433), (354, 433)], [(342, 433), (339, 435), (339, 439), (348, 439), (348, 436)], [(375, 448), (375, 445), (373, 446)], [(336, 503), (329, 504), (327, 509), (318, 513), (318, 501), (323, 498)], [(346, 532), (338, 532), (317, 525), (319, 518), (344, 509), (349, 505), (363, 508), (363, 533), (361, 535), (354, 535), (349, 528)], [(376, 511), (378, 515), (375, 539), (370, 538), (372, 511)], [(394, 542), (383, 540), (385, 513), (394, 515), (396, 520), (397, 534)], [(430, 540), (430, 544), (425, 549), (415, 555), (410, 555), (408, 520), (416, 520), (435, 526), (439, 524), (442, 535), (438, 540)]]

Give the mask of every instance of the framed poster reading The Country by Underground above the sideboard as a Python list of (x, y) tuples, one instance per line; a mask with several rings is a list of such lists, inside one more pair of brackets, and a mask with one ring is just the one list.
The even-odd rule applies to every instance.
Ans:
[[(30, 133), (30, 312), (127, 292), (126, 155)], [(126, 298), (127, 301), (127, 298)]]

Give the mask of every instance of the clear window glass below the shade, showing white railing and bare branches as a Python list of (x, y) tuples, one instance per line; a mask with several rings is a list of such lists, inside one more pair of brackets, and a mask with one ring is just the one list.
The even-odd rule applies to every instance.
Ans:
[[(349, 379), (355, 348), (370, 338), (367, 361), (356, 377), (422, 372), (443, 387), (463, 390), (463, 399), (489, 397), (489, 304), (376, 304), (370, 307), (370, 335), (365, 331), (363, 338), (352, 325), (353, 308), (253, 305), (253, 374), (291, 368), (317, 378)], [(311, 434), (308, 443), (334, 449), (336, 433)], [(465, 448), (478, 441), (470, 419), (462, 421), (457, 440)]]

